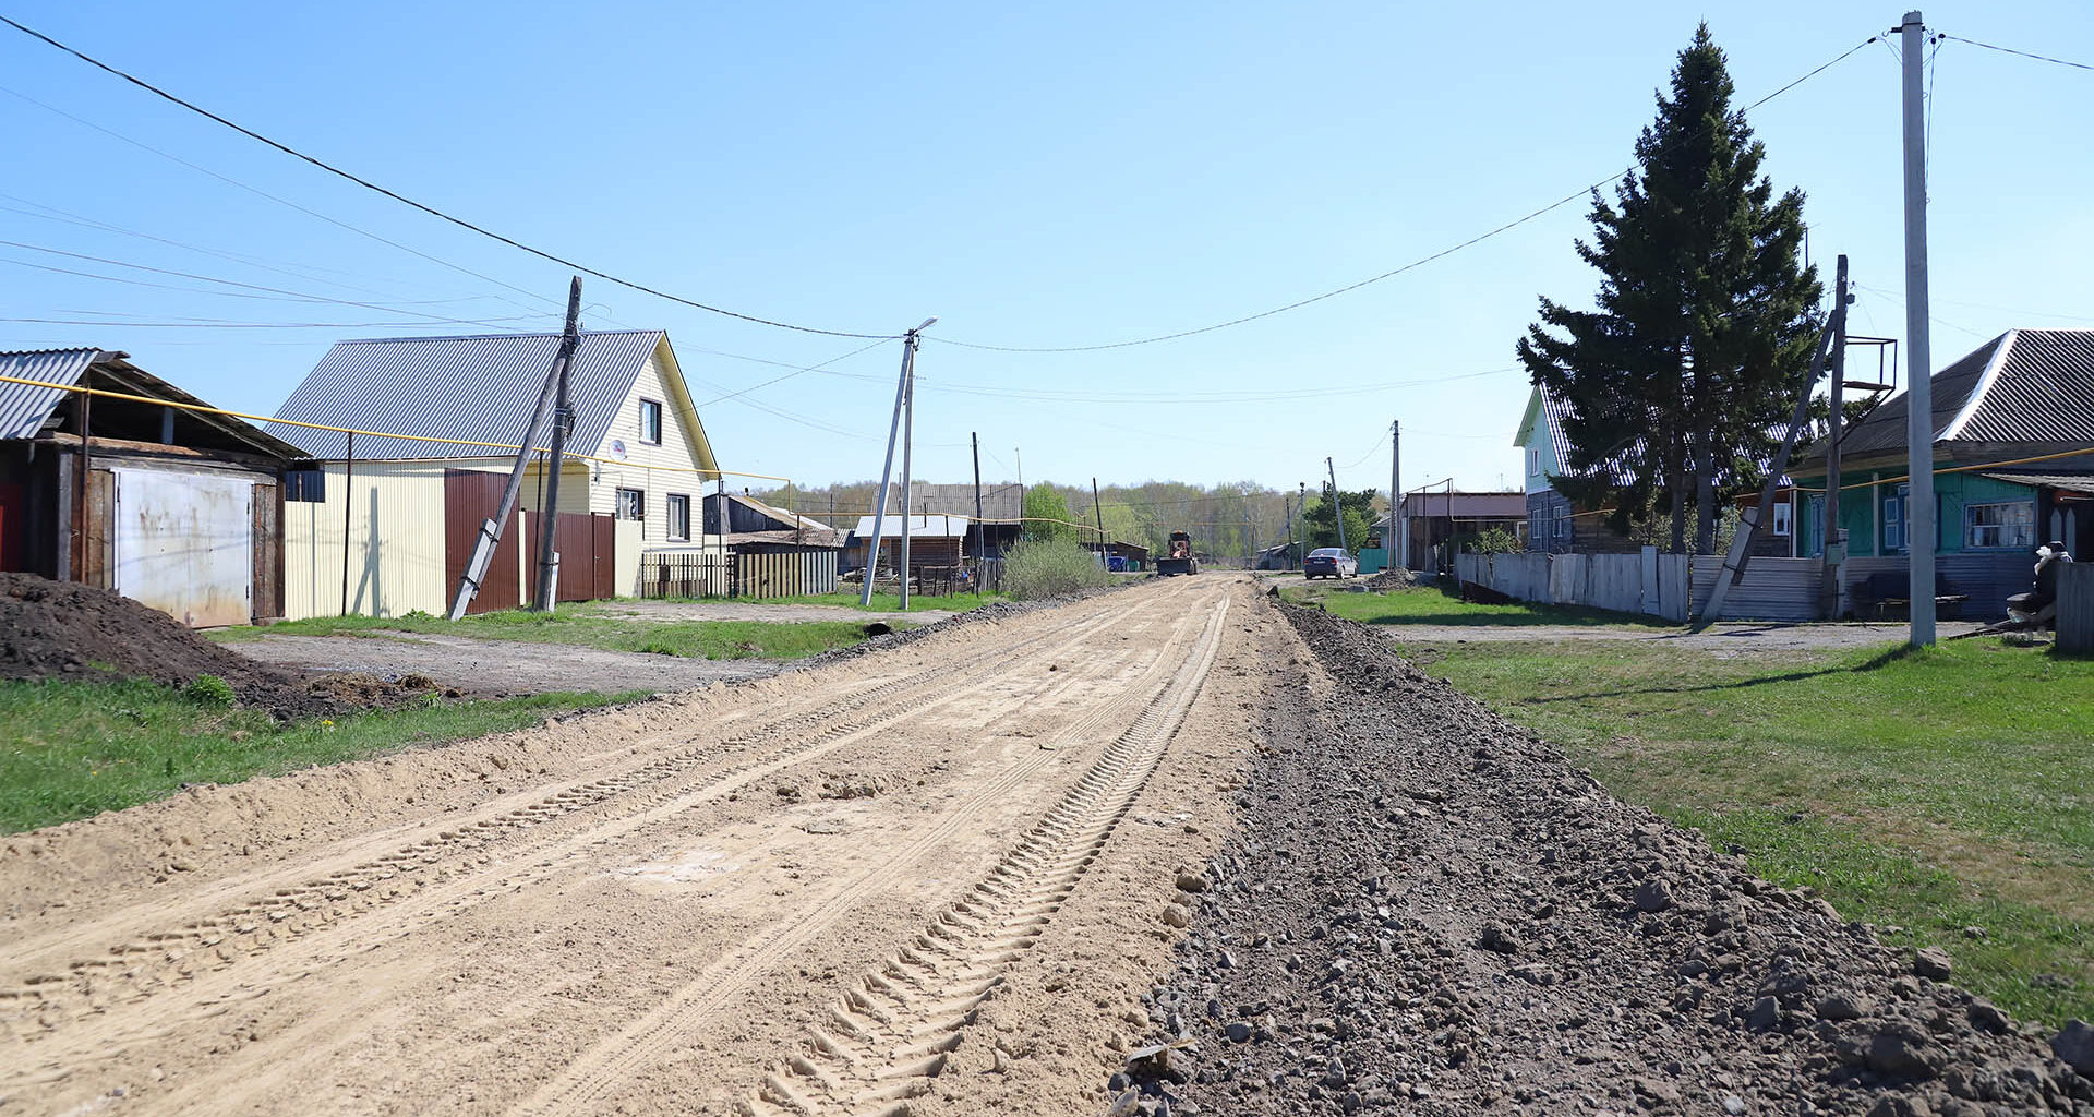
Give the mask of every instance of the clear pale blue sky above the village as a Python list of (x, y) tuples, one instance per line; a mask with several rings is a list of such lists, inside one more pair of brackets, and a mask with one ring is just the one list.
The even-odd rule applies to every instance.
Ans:
[[(1903, 8), (4, 10), (400, 193), (699, 302), (871, 333), (938, 314), (938, 340), (1083, 346), (1342, 287), (1619, 174), (1698, 19), (1751, 103)], [(2086, 4), (1924, 10), (1952, 36), (2094, 61)], [(1937, 367), (2010, 327), (2094, 325), (2094, 73), (1945, 42), (1935, 90)], [(199, 396), (266, 413), (339, 337), (559, 327), (565, 268), (4, 27), (0, 122), (0, 239), (13, 241), (0, 316), (94, 323), (0, 321), (0, 346), (121, 348)], [(1813, 260), (1830, 277), (1832, 254), (1851, 256), (1855, 329), (1901, 335), (1893, 50), (1870, 44), (1751, 122), (1776, 184), (1809, 195)], [(1292, 488), (1330, 455), (1344, 486), (1386, 486), (1401, 419), (1407, 488), (1447, 476), (1514, 486), (1527, 381), (1512, 346), (1535, 295), (1591, 295), (1570, 251), (1585, 228), (1585, 203), (1570, 203), (1395, 279), (1156, 346), (926, 344), (917, 476), (963, 480), (980, 432), (984, 474), (1003, 480), (1022, 451), (1026, 480)], [(586, 304), (591, 327), (668, 329), (701, 402), (865, 344), (595, 279)], [(898, 356), (886, 344), (706, 407), (722, 465), (802, 484), (873, 476)]]

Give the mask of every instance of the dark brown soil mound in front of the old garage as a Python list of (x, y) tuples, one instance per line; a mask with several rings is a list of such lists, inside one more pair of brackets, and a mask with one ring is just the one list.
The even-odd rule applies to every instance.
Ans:
[(199, 675), (232, 685), (243, 704), (279, 717), (329, 715), (413, 698), (398, 683), (304, 679), (220, 648), (130, 597), (36, 574), (0, 574), (0, 679), (151, 679), (186, 687)]

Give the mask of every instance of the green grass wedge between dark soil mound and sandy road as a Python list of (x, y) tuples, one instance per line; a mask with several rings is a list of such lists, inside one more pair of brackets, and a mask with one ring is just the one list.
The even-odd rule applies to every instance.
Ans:
[(630, 694), (444, 702), (279, 725), (157, 683), (0, 681), (0, 832), (57, 826), (174, 794), (310, 765), (521, 729)]

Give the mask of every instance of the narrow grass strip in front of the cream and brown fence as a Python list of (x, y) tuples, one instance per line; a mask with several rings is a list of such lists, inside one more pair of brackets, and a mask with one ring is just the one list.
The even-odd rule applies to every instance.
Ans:
[(561, 606), (559, 612), (551, 614), (503, 610), (463, 620), (419, 612), (406, 616), (316, 616), (268, 629), (220, 629), (211, 637), (239, 641), (268, 635), (383, 635), (387, 631), (574, 643), (607, 652), (651, 652), (706, 660), (798, 660), (865, 639), (865, 627), (852, 620), (637, 620), (595, 616), (572, 606)]

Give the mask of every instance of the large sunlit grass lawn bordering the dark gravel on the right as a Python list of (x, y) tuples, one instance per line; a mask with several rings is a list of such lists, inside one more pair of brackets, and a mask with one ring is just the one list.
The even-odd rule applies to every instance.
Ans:
[(1945, 947), (1960, 981), (2012, 1012), (2094, 1016), (2094, 660), (2002, 641), (1403, 654), (1763, 876)]

